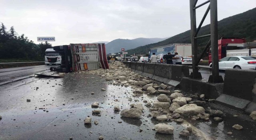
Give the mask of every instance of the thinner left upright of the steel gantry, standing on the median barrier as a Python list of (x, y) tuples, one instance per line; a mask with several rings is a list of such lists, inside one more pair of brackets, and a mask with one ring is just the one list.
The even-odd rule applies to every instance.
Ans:
[(197, 40), (195, 38), (196, 34), (196, 6), (197, 0), (190, 0), (190, 28), (191, 28), (191, 46), (192, 46), (192, 64), (193, 72), (190, 74), (190, 78), (193, 79), (202, 79), (201, 73), (198, 72), (197, 60), (198, 60), (198, 51), (197, 51)]

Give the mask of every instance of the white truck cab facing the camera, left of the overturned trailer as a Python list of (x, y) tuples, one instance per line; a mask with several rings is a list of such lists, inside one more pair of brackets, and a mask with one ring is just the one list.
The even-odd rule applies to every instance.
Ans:
[(46, 64), (46, 65), (61, 64), (61, 55), (60, 55), (60, 53), (53, 50), (53, 48), (46, 49), (45, 50), (45, 56), (44, 56), (44, 64)]

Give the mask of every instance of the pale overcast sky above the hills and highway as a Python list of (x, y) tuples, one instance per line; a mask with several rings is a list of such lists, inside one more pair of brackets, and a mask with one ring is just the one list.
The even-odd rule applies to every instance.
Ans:
[[(166, 38), (190, 30), (189, 0), (0, 0), (0, 5), (0, 22), (8, 30), (14, 26), (35, 43), (37, 36), (55, 36), (53, 46)], [(196, 11), (197, 25), (207, 6)], [(218, 20), (255, 7), (256, 0), (218, 0)]]

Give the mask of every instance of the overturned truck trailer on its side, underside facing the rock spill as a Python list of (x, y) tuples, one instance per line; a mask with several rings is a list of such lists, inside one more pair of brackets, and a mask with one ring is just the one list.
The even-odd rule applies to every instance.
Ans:
[(70, 44), (72, 48), (73, 69), (97, 70), (108, 69), (106, 46), (104, 43)]

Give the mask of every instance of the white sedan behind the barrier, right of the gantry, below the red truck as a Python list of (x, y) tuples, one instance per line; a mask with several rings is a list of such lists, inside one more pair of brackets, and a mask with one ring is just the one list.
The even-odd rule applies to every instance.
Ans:
[[(212, 67), (212, 63), (210, 63)], [(256, 67), (255, 56), (228, 56), (219, 60), (219, 69), (225, 70), (228, 68), (254, 70)]]

